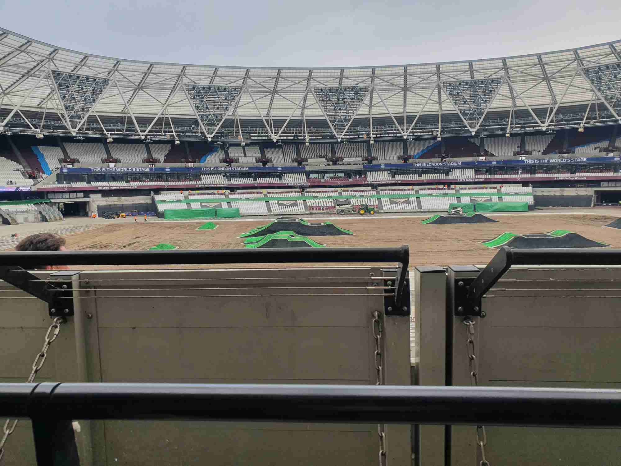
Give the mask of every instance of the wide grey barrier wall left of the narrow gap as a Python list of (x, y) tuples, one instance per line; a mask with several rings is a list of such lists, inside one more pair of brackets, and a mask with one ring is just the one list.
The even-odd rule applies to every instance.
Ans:
[[(384, 316), (383, 276), (367, 267), (81, 272), (75, 316), (61, 324), (36, 381), (375, 384), (379, 311), (383, 383), (409, 385), (409, 316)], [(22, 382), (50, 325), (47, 305), (4, 282), (0, 295), (0, 381)], [(74, 427), (84, 465), (370, 466), (380, 449), (376, 425), (78, 419)], [(386, 465), (409, 465), (410, 427), (384, 429)], [(22, 420), (4, 466), (34, 464)]]

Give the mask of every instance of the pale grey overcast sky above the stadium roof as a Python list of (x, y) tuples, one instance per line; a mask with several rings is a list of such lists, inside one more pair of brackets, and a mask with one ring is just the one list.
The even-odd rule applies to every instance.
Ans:
[(80, 52), (236, 66), (472, 60), (621, 39), (619, 0), (0, 0), (0, 27)]

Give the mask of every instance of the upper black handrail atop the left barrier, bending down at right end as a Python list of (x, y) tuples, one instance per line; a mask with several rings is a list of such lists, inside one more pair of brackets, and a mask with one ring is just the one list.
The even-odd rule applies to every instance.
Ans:
[[(405, 279), (410, 262), (407, 245), (368, 248), (274, 248), (274, 249), (196, 249), (171, 251), (27, 251), (0, 252), (0, 278), (30, 293), (27, 281), (37, 280), (25, 270), (45, 265), (180, 265), (227, 263), (320, 263), (376, 262), (399, 263), (394, 304), (401, 308)], [(12, 273), (19, 270), (19, 273)], [(35, 295), (35, 293), (32, 293)], [(38, 298), (45, 295), (43, 290)], [(45, 299), (47, 301), (47, 299)], [(48, 301), (49, 302), (49, 301)]]

